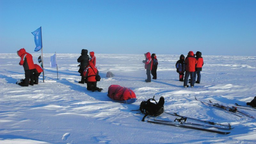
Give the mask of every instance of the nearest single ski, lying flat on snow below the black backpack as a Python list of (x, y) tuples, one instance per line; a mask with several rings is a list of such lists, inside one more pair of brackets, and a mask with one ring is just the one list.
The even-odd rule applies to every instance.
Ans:
[(211, 132), (211, 133), (219, 133), (219, 134), (228, 134), (228, 133), (230, 133), (230, 132), (222, 132), (222, 131), (216, 131), (216, 130), (211, 130), (211, 129), (206, 129), (206, 128), (188, 126), (188, 125), (166, 123), (166, 122), (159, 122), (159, 121), (151, 121), (151, 120), (148, 120), (148, 123), (160, 124), (160, 125), (170, 125), (170, 126), (189, 128), (189, 129), (200, 130), (200, 131)]

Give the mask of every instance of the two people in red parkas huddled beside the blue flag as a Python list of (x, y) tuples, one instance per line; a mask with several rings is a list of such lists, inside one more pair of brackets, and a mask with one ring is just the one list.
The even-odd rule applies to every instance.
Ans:
[(43, 72), (43, 69), (33, 62), (33, 57), (31, 54), (26, 52), (24, 48), (17, 51), (20, 57), (20, 65), (23, 65), (25, 71), (25, 79), (20, 80), (18, 85), (22, 87), (28, 87), (28, 85), (33, 86), (38, 84), (38, 77)]

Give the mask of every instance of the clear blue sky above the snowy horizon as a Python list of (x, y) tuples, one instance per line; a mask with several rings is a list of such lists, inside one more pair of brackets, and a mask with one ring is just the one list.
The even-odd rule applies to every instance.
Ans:
[(256, 0), (0, 0), (0, 53), (256, 55)]

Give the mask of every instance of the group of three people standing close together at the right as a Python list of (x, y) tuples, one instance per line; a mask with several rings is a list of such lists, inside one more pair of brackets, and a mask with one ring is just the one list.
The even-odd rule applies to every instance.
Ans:
[[(196, 57), (195, 57), (196, 56)], [(179, 73), (180, 81), (184, 81), (183, 87), (188, 87), (188, 77), (190, 75), (190, 87), (194, 87), (195, 83), (200, 83), (201, 71), (204, 65), (202, 53), (197, 51), (194, 54), (193, 51), (188, 52), (188, 56), (185, 58), (184, 55), (180, 55), (180, 60), (175, 64), (177, 72)], [(185, 72), (185, 78), (184, 78)], [(197, 75), (197, 80), (196, 80)], [(183, 80), (184, 78), (184, 80)]]

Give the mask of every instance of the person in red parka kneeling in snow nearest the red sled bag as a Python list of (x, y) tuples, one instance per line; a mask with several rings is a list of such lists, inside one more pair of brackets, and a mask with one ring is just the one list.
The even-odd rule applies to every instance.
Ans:
[(89, 61), (89, 65), (85, 68), (83, 75), (85, 77), (85, 83), (87, 83), (87, 90), (94, 92), (95, 90), (101, 92), (102, 88), (97, 87), (97, 81), (95, 76), (99, 74), (97, 67)]

